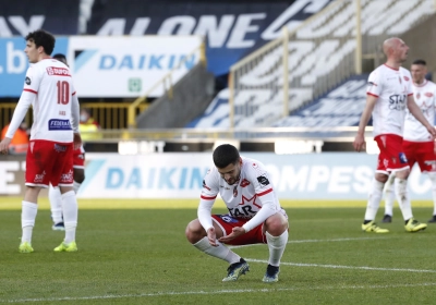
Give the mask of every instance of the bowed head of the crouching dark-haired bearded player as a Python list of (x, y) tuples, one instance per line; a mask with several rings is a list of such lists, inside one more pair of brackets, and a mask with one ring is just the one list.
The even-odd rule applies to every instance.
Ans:
[(214, 150), (214, 163), (227, 184), (232, 185), (241, 175), (242, 160), (237, 147), (222, 144)]

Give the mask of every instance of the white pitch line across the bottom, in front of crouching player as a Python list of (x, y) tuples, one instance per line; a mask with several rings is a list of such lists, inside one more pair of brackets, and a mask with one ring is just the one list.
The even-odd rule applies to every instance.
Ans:
[(420, 284), (392, 284), (392, 285), (340, 285), (340, 286), (307, 286), (307, 288), (279, 288), (279, 289), (238, 289), (238, 290), (218, 290), (218, 291), (182, 291), (182, 292), (156, 292), (140, 294), (108, 294), (94, 296), (63, 296), (63, 297), (40, 297), (40, 298), (15, 298), (0, 300), (0, 303), (26, 303), (26, 302), (60, 302), (60, 301), (89, 301), (89, 300), (111, 300), (123, 297), (153, 297), (153, 296), (171, 296), (171, 295), (215, 295), (222, 293), (250, 293), (250, 292), (282, 292), (282, 291), (313, 291), (313, 290), (368, 290), (368, 289), (397, 289), (397, 288), (417, 288), (417, 286), (436, 286), (436, 283)]

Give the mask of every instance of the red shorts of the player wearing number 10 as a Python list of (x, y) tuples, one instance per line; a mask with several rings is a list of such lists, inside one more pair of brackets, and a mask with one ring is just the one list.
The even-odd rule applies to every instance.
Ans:
[(26, 185), (48, 187), (73, 184), (73, 144), (31, 141), (26, 156)]

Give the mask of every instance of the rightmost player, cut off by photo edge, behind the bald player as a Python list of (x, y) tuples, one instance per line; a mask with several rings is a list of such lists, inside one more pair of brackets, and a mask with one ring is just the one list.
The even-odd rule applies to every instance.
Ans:
[[(413, 80), (413, 97), (428, 122), (435, 122), (436, 118), (436, 84), (425, 80), (427, 66), (424, 60), (415, 60), (411, 66)], [(420, 166), (421, 172), (428, 175), (432, 182), (433, 217), (428, 222), (436, 222), (436, 151), (435, 142), (428, 131), (408, 112), (404, 121), (402, 148), (408, 157), (409, 166)], [(392, 183), (395, 176), (389, 178), (385, 186), (385, 217), (382, 222), (391, 222), (393, 216)]]

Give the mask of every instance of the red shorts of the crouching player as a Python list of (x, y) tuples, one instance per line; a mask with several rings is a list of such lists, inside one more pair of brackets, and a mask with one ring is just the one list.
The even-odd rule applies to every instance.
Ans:
[[(221, 228), (225, 236), (229, 235), (232, 232), (232, 229), (235, 227), (244, 225), (250, 219), (237, 219), (231, 217), (230, 215), (213, 215), (211, 218), (217, 222), (217, 224)], [(259, 224), (250, 232), (235, 237), (229, 245), (250, 245), (250, 244), (266, 244), (266, 235), (264, 234), (262, 228), (264, 224)]]

